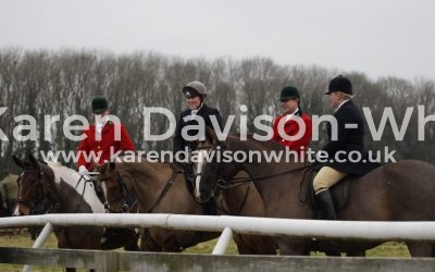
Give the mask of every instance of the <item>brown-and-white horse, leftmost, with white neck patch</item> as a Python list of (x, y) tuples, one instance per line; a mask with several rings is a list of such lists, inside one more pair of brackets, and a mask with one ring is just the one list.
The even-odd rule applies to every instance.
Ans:
[[(69, 168), (55, 163), (42, 163), (28, 154), (27, 160), (13, 156), (23, 172), (20, 175), (18, 195), (13, 215), (46, 213), (103, 213), (103, 203), (98, 198), (94, 183), (80, 178)], [(105, 237), (104, 231), (111, 228), (95, 226), (54, 227), (58, 248), (73, 249), (115, 249), (139, 250), (138, 236), (132, 230), (114, 231)], [(113, 234), (113, 232), (112, 232)], [(75, 271), (67, 269), (67, 271)]]

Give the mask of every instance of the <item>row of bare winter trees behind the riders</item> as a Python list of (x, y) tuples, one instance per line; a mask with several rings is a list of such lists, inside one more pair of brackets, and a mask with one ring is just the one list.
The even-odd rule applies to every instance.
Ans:
[[(309, 115), (332, 114), (327, 97), (323, 94), (330, 79), (344, 73), (353, 84), (353, 100), (361, 109), (370, 109), (376, 128), (382, 124), (385, 109), (390, 109), (397, 121), (397, 129), (387, 121), (376, 140), (370, 127), (365, 127), (368, 149), (384, 150), (388, 147), (396, 150), (395, 159), (398, 160), (435, 161), (435, 147), (430, 144), (434, 139), (434, 122), (427, 121), (422, 126), (418, 112), (418, 106), (424, 106), (420, 118), (435, 114), (433, 79), (415, 78), (410, 82), (385, 76), (373, 81), (362, 72), (343, 72), (315, 65), (279, 65), (260, 57), (207, 60), (145, 51), (114, 54), (97, 50), (34, 51), (9, 47), (0, 49), (0, 107), (8, 107), (0, 115), (0, 129), (8, 138), (2, 137), (0, 141), (0, 176), (11, 165), (12, 154), (74, 151), (78, 143), (65, 137), (63, 122), (73, 114), (84, 115), (91, 122), (90, 101), (96, 95), (108, 97), (112, 103), (111, 114), (120, 118), (137, 149), (160, 151), (172, 149), (172, 138), (159, 141), (144, 138), (144, 107), (165, 108), (177, 119), (185, 109), (182, 88), (191, 81), (204, 83), (209, 90), (207, 103), (220, 110), (224, 122), (228, 115), (236, 115), (232, 132), (239, 128), (237, 116), (245, 114), (248, 132), (263, 134), (256, 128), (253, 120), (261, 114), (279, 114), (277, 99), (286, 85), (294, 85), (300, 90), (302, 110)], [(247, 112), (240, 112), (241, 104), (247, 106)], [(36, 141), (13, 137), (17, 125), (28, 123), (15, 120), (23, 114), (34, 116), (37, 122)], [(45, 131), (45, 116), (58, 114), (60, 122)], [(400, 128), (407, 116), (410, 116), (409, 124), (400, 140), (398, 135), (401, 135)], [(165, 116), (154, 114), (151, 121), (152, 134), (167, 131), (169, 120)], [(25, 131), (22, 134), (25, 135)], [(425, 140), (419, 140), (418, 135), (424, 135)], [(322, 129), (320, 139), (314, 140), (311, 147), (318, 150), (325, 141), (326, 134)], [(61, 163), (74, 168), (72, 162)]]

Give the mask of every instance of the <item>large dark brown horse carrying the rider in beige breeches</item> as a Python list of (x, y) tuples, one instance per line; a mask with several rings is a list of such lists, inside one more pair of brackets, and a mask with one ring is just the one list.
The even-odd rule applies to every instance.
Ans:
[[(212, 143), (209, 152), (223, 152), (227, 156), (252, 151), (286, 153), (285, 147), (269, 140), (259, 141), (251, 135), (241, 140), (236, 135), (228, 135), (224, 141), (217, 139), (212, 129), (207, 131), (207, 138)], [(200, 148), (200, 146), (199, 146)], [(222, 156), (222, 154), (221, 154)], [(219, 156), (206, 162), (198, 173), (198, 186), (195, 197), (207, 201), (219, 184), (226, 184), (238, 171), (246, 171), (259, 190), (270, 218), (313, 219), (314, 211), (308, 201), (312, 187), (303, 178), (310, 168), (295, 159), (271, 163), (260, 159), (221, 160)], [(433, 221), (435, 220), (435, 186), (433, 178), (435, 166), (417, 161), (402, 160), (384, 164), (363, 176), (352, 176), (347, 183), (347, 203), (337, 211), (339, 220), (351, 221)], [(343, 189), (346, 181), (332, 187), (333, 195)], [(325, 252), (361, 252), (373, 248), (381, 242), (312, 239), (311, 237), (279, 237), (282, 255), (307, 255), (318, 250)], [(406, 242), (412, 257), (434, 257), (433, 242)]]

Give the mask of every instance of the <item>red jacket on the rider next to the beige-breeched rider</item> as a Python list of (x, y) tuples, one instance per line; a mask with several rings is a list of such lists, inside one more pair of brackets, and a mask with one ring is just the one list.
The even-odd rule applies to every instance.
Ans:
[[(282, 114), (278, 115), (274, 122), (273, 122), (273, 136), (272, 139), (276, 140), (277, 143), (279, 143), (283, 146), (288, 147), (290, 150), (295, 150), (297, 152), (300, 153), (300, 148), (304, 147), (304, 150), (308, 149), (308, 146), (311, 143), (311, 136), (312, 136), (312, 121), (310, 119), (310, 116), (308, 116), (308, 114), (306, 113), (300, 113), (300, 111), (296, 112), (295, 115), (298, 115), (299, 118), (302, 119), (303, 123), (306, 124), (306, 133), (302, 135), (302, 137), (298, 140), (287, 140), (284, 139), (279, 133), (278, 133), (278, 123), (279, 121), (286, 116), (286, 114)], [(285, 124), (284, 124), (284, 132), (285, 134), (287, 134), (288, 136), (295, 136), (299, 133), (299, 124), (295, 121), (295, 120), (288, 120)], [(301, 152), (300, 153), (301, 157), (306, 156), (306, 152)]]

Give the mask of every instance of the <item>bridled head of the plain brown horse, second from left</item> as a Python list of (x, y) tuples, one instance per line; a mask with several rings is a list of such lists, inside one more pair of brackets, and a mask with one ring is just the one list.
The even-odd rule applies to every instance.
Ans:
[(113, 213), (128, 212), (127, 197), (129, 190), (123, 182), (116, 163), (107, 162), (102, 165), (98, 165), (97, 169), (99, 172), (98, 180), (102, 185), (107, 199), (104, 208)]

